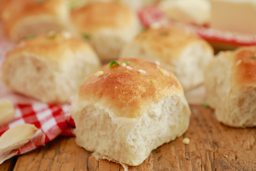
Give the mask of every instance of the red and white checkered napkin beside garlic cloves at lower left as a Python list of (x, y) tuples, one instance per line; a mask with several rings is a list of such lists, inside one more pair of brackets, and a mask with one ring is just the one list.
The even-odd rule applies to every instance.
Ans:
[(8, 154), (1, 154), (0, 160), (6, 160), (14, 155), (31, 151), (52, 141), (59, 135), (74, 136), (73, 128), (75, 123), (69, 114), (69, 104), (15, 104), (14, 108), (16, 112), (15, 118), (8, 125), (0, 127), (0, 136), (9, 128), (20, 124), (34, 124), (38, 130), (33, 140), (30, 140), (19, 149), (8, 152)]

